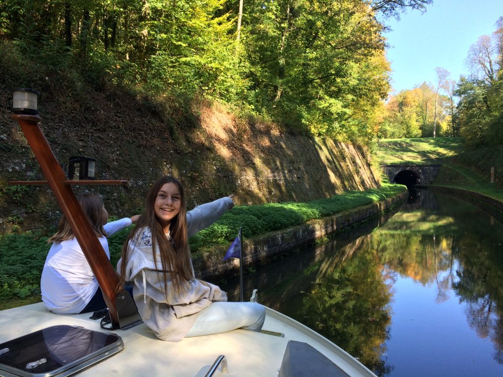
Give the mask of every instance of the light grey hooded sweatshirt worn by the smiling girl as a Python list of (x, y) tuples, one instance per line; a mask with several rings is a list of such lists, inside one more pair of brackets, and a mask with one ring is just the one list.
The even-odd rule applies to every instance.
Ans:
[[(197, 206), (187, 212), (187, 233), (192, 236), (210, 226), (232, 206), (225, 197)], [(161, 265), (158, 246), (157, 266)], [(120, 273), (121, 260), (117, 263)], [(143, 322), (162, 340), (179, 341), (192, 328), (199, 312), (214, 301), (227, 301), (219, 287), (193, 278), (183, 296), (176, 295), (170, 274), (167, 275), (167, 295), (162, 272), (155, 269), (150, 228), (142, 228), (128, 245), (125, 277), (133, 281), (133, 298)]]

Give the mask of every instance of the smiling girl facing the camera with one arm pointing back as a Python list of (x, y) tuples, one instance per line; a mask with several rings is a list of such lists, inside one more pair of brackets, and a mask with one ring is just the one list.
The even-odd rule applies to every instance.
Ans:
[(133, 298), (145, 324), (162, 340), (209, 335), (237, 328), (260, 331), (264, 307), (229, 303), (219, 287), (196, 279), (188, 237), (233, 206), (232, 195), (187, 212), (182, 183), (163, 176), (152, 184), (145, 211), (117, 264), (121, 284), (133, 281)]

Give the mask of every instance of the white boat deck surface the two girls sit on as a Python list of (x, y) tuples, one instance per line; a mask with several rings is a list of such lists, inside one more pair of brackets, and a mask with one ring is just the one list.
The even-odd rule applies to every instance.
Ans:
[[(115, 330), (124, 342), (124, 350), (79, 373), (82, 377), (117, 376), (204, 376), (219, 355), (225, 355), (228, 371), (215, 376), (276, 377), (288, 340), (308, 343), (350, 376), (374, 376), (345, 351), (314, 331), (267, 309), (264, 330), (281, 332), (285, 338), (246, 330), (185, 338), (165, 342), (140, 324), (129, 330)], [(54, 325), (75, 325), (103, 331), (100, 320), (90, 314), (62, 316), (48, 312), (42, 303), (0, 311), (0, 343)], [(110, 331), (108, 331), (110, 332)], [(1, 374), (1, 372), (0, 372)]]

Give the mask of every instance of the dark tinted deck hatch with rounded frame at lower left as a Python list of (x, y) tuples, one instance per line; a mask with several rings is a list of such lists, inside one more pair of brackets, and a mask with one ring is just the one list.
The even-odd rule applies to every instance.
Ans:
[(0, 344), (0, 376), (64, 377), (122, 351), (120, 336), (79, 326), (44, 328)]

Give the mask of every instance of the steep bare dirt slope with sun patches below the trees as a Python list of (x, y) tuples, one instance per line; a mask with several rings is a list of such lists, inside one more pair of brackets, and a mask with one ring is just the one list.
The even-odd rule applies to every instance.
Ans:
[[(13, 81), (3, 82), (0, 91), (0, 234), (54, 226), (60, 216), (47, 187), (7, 185), (11, 179), (44, 179), (10, 119), (10, 89), (18, 86)], [(41, 91), (41, 128), (61, 166), (70, 156), (86, 155), (97, 159), (97, 178), (129, 180), (129, 187), (74, 188), (102, 194), (112, 215), (140, 211), (148, 186), (161, 174), (181, 178), (189, 208), (231, 193), (238, 204), (258, 204), (309, 201), (379, 185), (354, 145), (238, 120), (218, 105), (184, 108), (117, 87), (86, 87), (78, 98), (50, 83)]]

